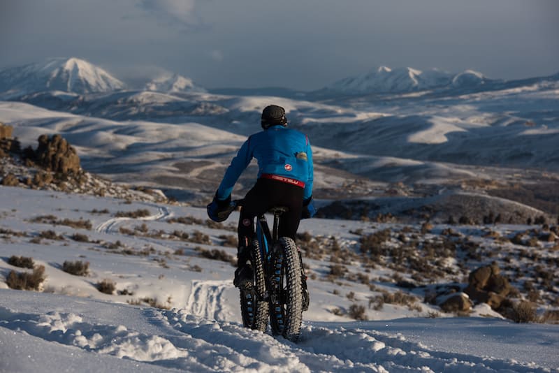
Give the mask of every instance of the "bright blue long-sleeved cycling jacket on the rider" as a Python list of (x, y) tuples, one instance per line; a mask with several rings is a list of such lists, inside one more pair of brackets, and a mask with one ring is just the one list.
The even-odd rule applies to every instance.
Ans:
[(312, 150), (309, 139), (294, 129), (272, 126), (254, 133), (242, 144), (219, 184), (219, 200), (231, 195), (235, 182), (252, 158), (258, 161), (258, 177), (263, 174), (289, 177), (305, 183), (303, 198), (312, 195)]

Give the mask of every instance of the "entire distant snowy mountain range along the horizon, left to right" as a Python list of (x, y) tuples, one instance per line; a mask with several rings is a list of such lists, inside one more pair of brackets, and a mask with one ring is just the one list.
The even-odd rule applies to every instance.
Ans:
[[(215, 94), (237, 96), (283, 96), (289, 98), (312, 98), (313, 96), (403, 94), (427, 90), (491, 90), (525, 85), (530, 80), (558, 80), (559, 74), (546, 78), (529, 78), (506, 82), (492, 80), (482, 73), (466, 70), (449, 73), (436, 68), (420, 71), (415, 68), (389, 68), (381, 66), (369, 73), (338, 80), (323, 89), (301, 92), (286, 88), (260, 89), (212, 89)], [(103, 68), (78, 58), (48, 59), (43, 63), (27, 64), (0, 70), (0, 99), (18, 99), (39, 92), (66, 92), (69, 94), (93, 94), (131, 90)], [(138, 89), (134, 89), (138, 90)], [(140, 91), (164, 94), (191, 94), (207, 92), (195, 85), (190, 78), (175, 73), (165, 73), (147, 82)]]

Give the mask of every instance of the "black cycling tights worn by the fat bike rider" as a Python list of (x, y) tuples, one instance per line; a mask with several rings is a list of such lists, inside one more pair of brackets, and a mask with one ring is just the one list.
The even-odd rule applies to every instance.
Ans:
[(240, 209), (238, 237), (241, 246), (252, 242), (254, 217), (276, 206), (289, 208), (279, 219), (279, 237), (295, 240), (303, 210), (303, 188), (277, 180), (259, 179), (245, 196)]

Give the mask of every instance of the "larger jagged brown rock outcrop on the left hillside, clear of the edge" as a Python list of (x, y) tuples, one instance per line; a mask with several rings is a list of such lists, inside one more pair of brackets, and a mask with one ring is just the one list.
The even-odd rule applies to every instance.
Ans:
[(60, 135), (51, 137), (41, 135), (38, 142), (39, 145), (35, 152), (35, 160), (38, 166), (53, 173), (64, 175), (77, 174), (80, 171), (78, 153)]

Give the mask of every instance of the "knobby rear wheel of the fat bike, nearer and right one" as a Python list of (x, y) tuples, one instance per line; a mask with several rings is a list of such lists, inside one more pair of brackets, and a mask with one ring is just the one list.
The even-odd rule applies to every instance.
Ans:
[(303, 321), (303, 289), (297, 246), (281, 237), (273, 249), (270, 294), (270, 326), (275, 335), (297, 342)]

